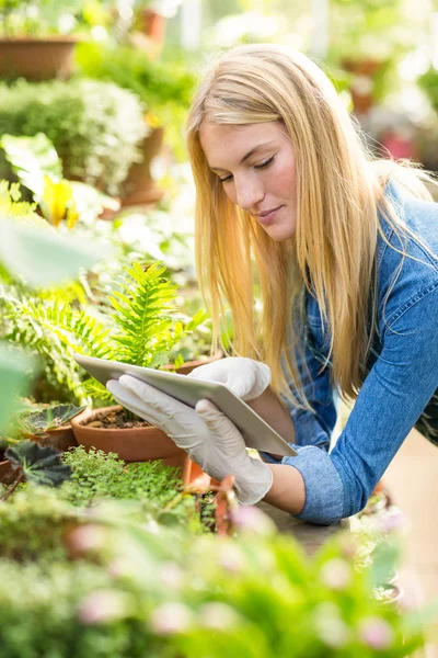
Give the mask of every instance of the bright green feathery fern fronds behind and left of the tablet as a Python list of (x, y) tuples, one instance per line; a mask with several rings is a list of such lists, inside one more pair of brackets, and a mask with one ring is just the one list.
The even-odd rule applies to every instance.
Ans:
[(108, 298), (113, 313), (102, 315), (102, 321), (88, 310), (56, 300), (4, 298), (10, 322), (5, 338), (41, 354), (47, 381), (65, 387), (80, 404), (90, 395), (108, 399), (101, 384), (90, 378), (83, 382), (85, 375), (73, 352), (158, 367), (168, 363), (172, 347), (204, 318), (197, 314), (186, 325), (174, 319), (176, 286), (162, 276), (164, 271), (159, 263), (146, 271), (138, 263), (126, 268)]

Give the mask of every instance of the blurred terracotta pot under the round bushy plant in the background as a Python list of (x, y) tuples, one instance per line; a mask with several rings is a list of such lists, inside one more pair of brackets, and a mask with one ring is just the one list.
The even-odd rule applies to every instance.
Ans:
[(153, 158), (159, 154), (163, 143), (164, 128), (152, 128), (140, 144), (143, 155), (141, 162), (135, 162), (123, 183), (122, 205), (149, 204), (160, 201), (163, 191), (159, 190), (152, 179), (150, 166)]

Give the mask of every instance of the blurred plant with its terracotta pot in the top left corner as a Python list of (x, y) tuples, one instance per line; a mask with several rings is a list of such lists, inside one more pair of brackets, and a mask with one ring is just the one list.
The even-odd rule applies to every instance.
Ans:
[(79, 9), (78, 0), (0, 0), (0, 76), (68, 78)]

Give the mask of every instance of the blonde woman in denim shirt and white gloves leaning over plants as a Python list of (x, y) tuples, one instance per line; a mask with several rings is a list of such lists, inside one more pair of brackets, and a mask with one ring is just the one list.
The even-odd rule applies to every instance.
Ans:
[[(438, 438), (438, 206), (427, 175), (373, 161), (322, 70), (275, 45), (212, 65), (188, 148), (198, 277), (216, 336), (223, 300), (231, 307), (240, 355), (193, 376), (258, 404), (298, 456), (250, 457), (206, 400), (194, 411), (132, 377), (108, 388), (204, 470), (234, 474), (241, 502), (336, 522), (364, 508), (416, 423)], [(328, 454), (335, 395), (357, 399)]]

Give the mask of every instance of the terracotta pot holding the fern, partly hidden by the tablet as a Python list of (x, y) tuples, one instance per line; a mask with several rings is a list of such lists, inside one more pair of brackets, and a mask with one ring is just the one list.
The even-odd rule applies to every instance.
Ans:
[(150, 462), (161, 460), (165, 466), (181, 469), (181, 477), (186, 485), (201, 475), (201, 469), (194, 464), (187, 453), (177, 447), (164, 432), (154, 427), (106, 429), (90, 428), (84, 424), (99, 415), (122, 409), (119, 406), (102, 409), (85, 409), (71, 419), (74, 438), (79, 445), (87, 449), (96, 447), (105, 453), (116, 453), (125, 462)]

